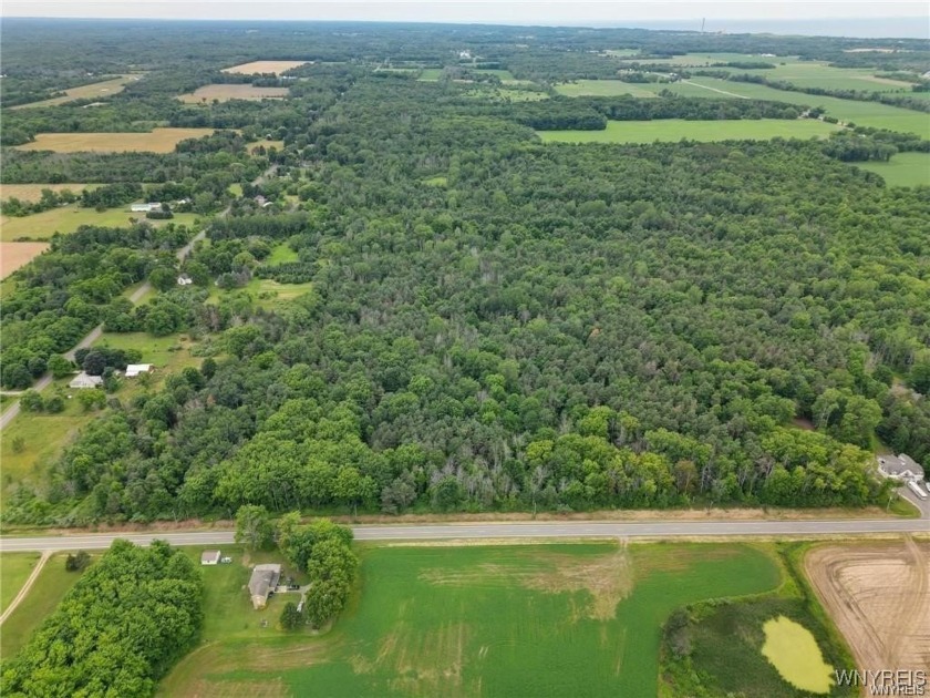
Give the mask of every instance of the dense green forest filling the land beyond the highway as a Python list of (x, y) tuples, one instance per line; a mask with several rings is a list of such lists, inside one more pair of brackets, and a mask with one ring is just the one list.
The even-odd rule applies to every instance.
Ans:
[[(610, 63), (589, 53), (590, 37), (556, 29), (540, 29), (531, 50), (514, 49), (507, 28), (430, 41), (414, 28), (360, 29), (309, 52), (285, 40), (271, 58), (345, 63), (297, 69), (300, 88), (279, 102), (182, 105), (182, 90), (241, 80), (221, 66), (269, 58), (252, 44), (268, 37), (199, 54), (185, 31), (172, 52), (140, 49), (135, 65), (152, 81), (93, 116), (80, 105), (10, 112), (24, 138), (69, 130), (71, 117), (73, 130), (196, 117), (240, 131), (165, 155), (4, 150), (4, 182), (146, 183), (217, 214), (180, 266), (170, 250), (192, 232), (140, 223), (59, 236), (18, 273), (2, 308), (6, 386), (28, 387), (99, 320), (187, 332), (203, 361), (110, 400), (41, 484), (8, 497), (4, 521), (229, 517), (244, 505), (860, 506), (887, 500), (872, 474), (877, 438), (930, 458), (930, 189), (889, 188), (843, 162), (926, 141), (870, 130), (823, 142), (542, 145), (533, 129), (802, 110), (672, 95), (498, 103), (468, 96), (474, 83), (363, 63), (390, 51), (395, 63), (442, 66), (471, 47), (542, 81)], [(673, 44), (610, 31), (599, 50), (746, 49), (738, 37)], [(114, 62), (123, 41), (85, 64), (125, 69)], [(193, 53), (175, 64), (187, 41)], [(755, 52), (769, 45), (754, 41)], [(822, 59), (859, 45), (783, 41), (782, 52)], [(18, 51), (4, 68), (13, 78), (29, 74)], [(249, 154), (258, 138), (283, 145)], [(276, 249), (288, 260), (272, 261)], [(178, 273), (192, 287), (173, 287)], [(161, 292), (133, 307), (120, 291), (142, 279)], [(252, 279), (309, 287), (269, 302), (249, 291)]]

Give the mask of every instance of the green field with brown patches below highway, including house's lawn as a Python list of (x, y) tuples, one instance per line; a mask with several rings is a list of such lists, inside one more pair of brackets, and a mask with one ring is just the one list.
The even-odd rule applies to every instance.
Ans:
[(320, 637), (236, 627), (245, 576), (218, 579), (217, 613), (232, 625), (208, 629), (162, 695), (655, 696), (672, 610), (781, 582), (768, 552), (742, 544), (371, 546), (361, 557), (360, 588)]

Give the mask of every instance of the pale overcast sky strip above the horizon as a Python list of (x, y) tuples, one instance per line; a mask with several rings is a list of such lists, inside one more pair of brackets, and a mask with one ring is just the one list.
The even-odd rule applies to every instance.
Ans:
[(2, 0), (3, 17), (161, 18), (161, 19), (303, 19), (519, 24), (613, 24), (689, 20), (779, 21), (922, 18), (930, 25), (926, 0), (884, 2), (742, 0), (674, 2), (579, 2), (546, 0)]

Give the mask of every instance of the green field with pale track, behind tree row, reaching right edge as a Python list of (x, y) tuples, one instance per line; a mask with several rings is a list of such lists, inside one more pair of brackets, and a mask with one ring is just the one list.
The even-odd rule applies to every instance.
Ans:
[[(808, 106), (822, 106), (830, 116), (844, 122), (852, 122), (860, 126), (874, 126), (877, 129), (889, 129), (906, 133), (916, 133), (924, 138), (930, 138), (930, 117), (922, 112), (914, 112), (897, 106), (888, 106), (878, 102), (859, 102), (855, 100), (840, 100), (837, 97), (818, 96), (803, 92), (787, 92), (775, 90), (766, 85), (756, 85), (747, 82), (733, 82), (717, 80), (715, 78), (692, 78), (691, 84), (671, 83), (654, 85), (659, 91), (668, 89), (676, 94), (688, 96), (720, 97), (717, 91), (730, 92), (735, 95), (755, 100), (772, 100), (786, 102), (788, 104), (805, 104)], [(698, 91), (702, 91), (701, 92)]]

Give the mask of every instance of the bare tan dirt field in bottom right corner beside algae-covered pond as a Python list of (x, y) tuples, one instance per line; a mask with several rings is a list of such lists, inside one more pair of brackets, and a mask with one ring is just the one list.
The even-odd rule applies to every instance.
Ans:
[(849, 669), (930, 669), (930, 544), (824, 545), (805, 568), (852, 649)]

